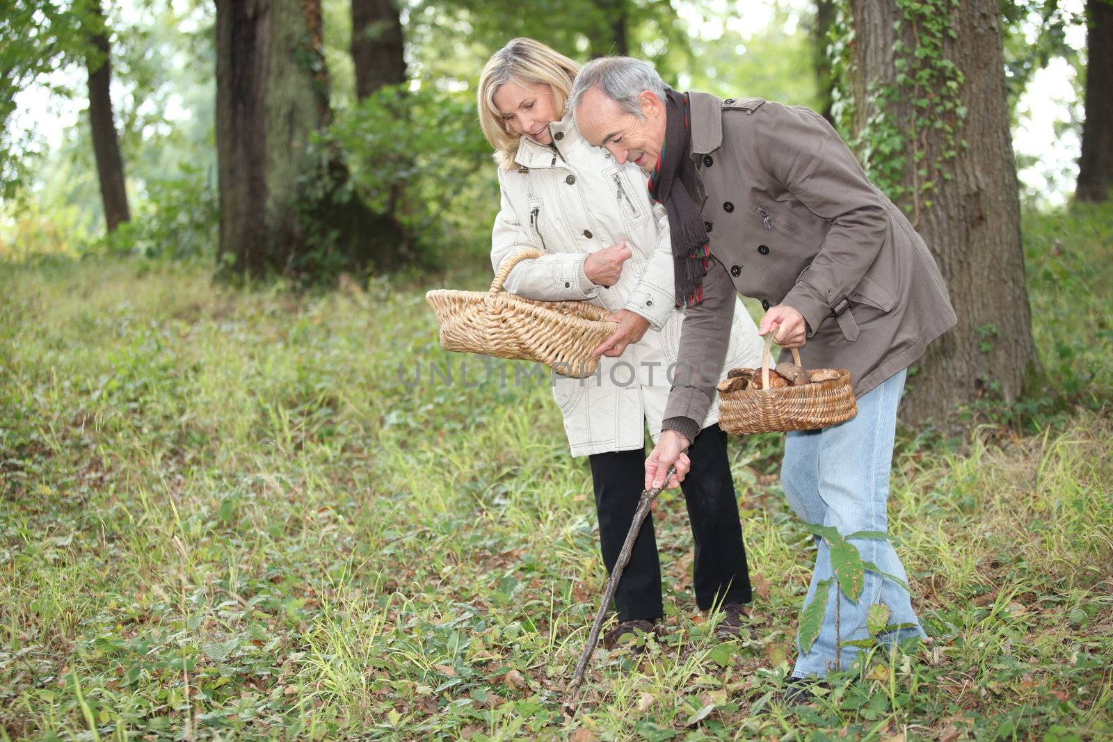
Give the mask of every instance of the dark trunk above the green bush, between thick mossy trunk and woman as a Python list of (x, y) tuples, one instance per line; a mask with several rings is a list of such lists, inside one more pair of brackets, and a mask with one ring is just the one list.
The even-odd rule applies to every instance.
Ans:
[(406, 80), (402, 18), (393, 0), (352, 0), (352, 60), (359, 100)]

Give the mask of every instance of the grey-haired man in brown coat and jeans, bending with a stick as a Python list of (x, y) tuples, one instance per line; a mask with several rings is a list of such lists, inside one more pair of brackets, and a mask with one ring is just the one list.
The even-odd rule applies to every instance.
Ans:
[[(660, 485), (673, 463), (684, 474), (680, 454), (711, 404), (737, 291), (761, 301), (762, 335), (800, 347), (810, 368), (849, 369), (854, 383), (855, 418), (788, 434), (781, 481), (792, 508), (843, 535), (885, 532), (907, 367), (955, 324), (923, 239), (806, 108), (680, 93), (650, 65), (624, 57), (584, 67), (570, 105), (590, 144), (649, 172), (650, 194), (669, 214), (677, 299), (689, 307), (679, 353), (686, 367), (646, 462), (646, 486)], [(833, 575), (828, 545), (817, 541), (805, 605)], [(807, 695), (805, 679), (851, 661), (858, 650), (846, 642), (869, 637), (866, 613), (875, 603), (890, 611), (888, 641), (924, 635), (888, 540), (851, 543), (871, 571), (857, 601), (840, 596), (838, 613), (838, 584), (828, 583), (827, 615), (809, 652), (797, 656), (790, 698)]]

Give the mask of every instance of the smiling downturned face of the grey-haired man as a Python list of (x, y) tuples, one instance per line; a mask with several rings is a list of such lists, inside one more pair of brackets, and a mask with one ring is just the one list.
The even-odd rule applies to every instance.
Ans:
[(575, 123), (589, 144), (605, 147), (621, 165), (633, 162), (652, 171), (664, 142), (664, 105), (657, 96), (643, 90), (638, 96), (642, 116), (629, 113), (599, 88), (591, 88), (575, 110)]

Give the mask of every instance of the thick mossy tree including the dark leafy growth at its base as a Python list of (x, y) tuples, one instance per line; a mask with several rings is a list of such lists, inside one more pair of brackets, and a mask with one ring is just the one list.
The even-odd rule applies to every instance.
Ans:
[(217, 0), (217, 170), (221, 261), (236, 274), (328, 277), (402, 240), (346, 187), (328, 125), (328, 70), (317, 0)]

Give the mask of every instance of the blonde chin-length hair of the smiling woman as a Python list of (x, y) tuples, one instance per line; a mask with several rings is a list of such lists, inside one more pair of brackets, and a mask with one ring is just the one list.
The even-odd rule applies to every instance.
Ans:
[(476, 103), (480, 128), (494, 147), (494, 161), (500, 167), (509, 170), (514, 166), (521, 137), (506, 128), (494, 105), (499, 88), (511, 80), (519, 85), (548, 85), (553, 91), (553, 110), (560, 118), (564, 116), (564, 102), (579, 71), (577, 62), (533, 39), (511, 39), (491, 56), (480, 75)]

